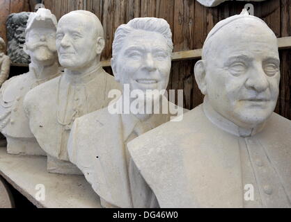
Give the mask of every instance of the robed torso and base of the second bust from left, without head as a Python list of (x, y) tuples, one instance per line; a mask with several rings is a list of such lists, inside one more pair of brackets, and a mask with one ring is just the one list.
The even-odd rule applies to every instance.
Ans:
[(70, 128), (77, 117), (106, 107), (112, 100), (108, 98), (111, 89), (120, 85), (98, 65), (81, 76), (65, 70), (26, 95), (24, 108), (31, 132), (48, 155), (49, 171), (80, 173), (68, 162)]

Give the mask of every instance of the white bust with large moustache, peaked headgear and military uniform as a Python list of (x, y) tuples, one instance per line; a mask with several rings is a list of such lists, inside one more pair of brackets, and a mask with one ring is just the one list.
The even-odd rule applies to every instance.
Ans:
[(60, 74), (56, 17), (50, 10), (31, 12), (25, 38), (24, 51), (31, 57), (29, 72), (6, 80), (0, 89), (0, 131), (7, 139), (8, 153), (45, 155), (29, 128), (23, 100), (30, 89)]

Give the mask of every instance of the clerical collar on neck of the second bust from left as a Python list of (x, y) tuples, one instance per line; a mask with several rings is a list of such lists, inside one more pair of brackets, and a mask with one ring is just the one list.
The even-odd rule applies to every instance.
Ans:
[(102, 71), (101, 62), (95, 66), (91, 67), (86, 73), (84, 74), (72, 74), (69, 69), (65, 69), (65, 79), (72, 85), (78, 84), (86, 84), (91, 82), (98, 74)]

